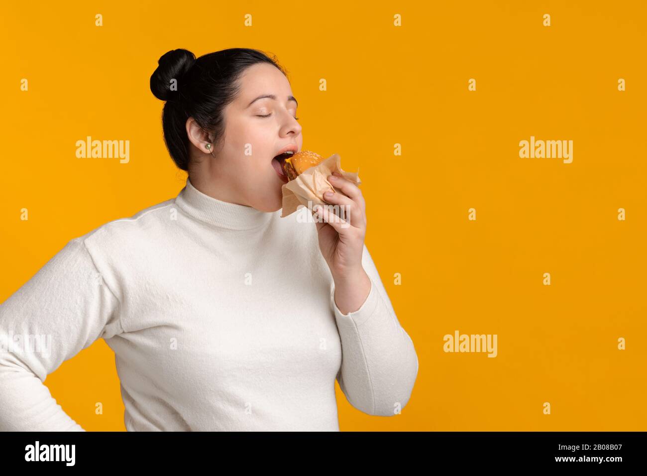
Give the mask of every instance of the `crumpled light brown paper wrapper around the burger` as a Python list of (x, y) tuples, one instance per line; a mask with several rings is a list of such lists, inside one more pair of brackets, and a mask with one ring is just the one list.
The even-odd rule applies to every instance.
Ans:
[(329, 203), (323, 199), (325, 192), (333, 190), (342, 193), (340, 190), (336, 190), (326, 178), (333, 175), (333, 172), (339, 172), (356, 185), (362, 183), (360, 177), (357, 176), (359, 169), (353, 173), (344, 172), (342, 158), (333, 153), (319, 165), (304, 170), (296, 179), (283, 184), (281, 187), (283, 192), (281, 218), (296, 212), (299, 205), (309, 207), (311, 210), (314, 205), (328, 205)]

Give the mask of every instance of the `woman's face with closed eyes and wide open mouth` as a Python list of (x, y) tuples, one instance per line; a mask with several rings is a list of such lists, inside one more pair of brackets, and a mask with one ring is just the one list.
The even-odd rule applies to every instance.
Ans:
[[(286, 146), (301, 150), (303, 137), (296, 121), (297, 103), (281, 71), (269, 63), (248, 67), (240, 92), (225, 108), (225, 136), (206, 155), (208, 189), (216, 198), (264, 212), (282, 206), (281, 186), (272, 159)], [(274, 96), (262, 97), (262, 96)], [(264, 117), (263, 117), (264, 116)]]

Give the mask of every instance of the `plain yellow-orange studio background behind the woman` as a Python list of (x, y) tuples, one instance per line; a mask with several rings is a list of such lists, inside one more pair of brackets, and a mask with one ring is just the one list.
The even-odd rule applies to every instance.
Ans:
[[(304, 148), (360, 168), (366, 244), (419, 356), (400, 415), (362, 414), (337, 387), (342, 431), (647, 429), (644, 2), (1, 8), (0, 300), (72, 238), (184, 186), (149, 90), (159, 57), (252, 47), (289, 71)], [(129, 140), (130, 162), (76, 159), (87, 135)], [(572, 140), (573, 163), (521, 159), (531, 135)], [(454, 330), (497, 334), (498, 356), (443, 352)], [(45, 383), (88, 431), (125, 429), (104, 341)]]

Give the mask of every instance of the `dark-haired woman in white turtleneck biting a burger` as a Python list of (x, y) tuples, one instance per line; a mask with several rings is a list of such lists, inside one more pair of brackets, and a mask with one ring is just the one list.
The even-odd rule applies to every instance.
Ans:
[(272, 159), (303, 143), (281, 67), (178, 49), (151, 90), (186, 186), (74, 238), (2, 304), (7, 343), (51, 346), (0, 353), (0, 429), (83, 431), (43, 381), (99, 338), (129, 431), (338, 431), (335, 378), (360, 411), (399, 413), (418, 359), (364, 245), (362, 192), (330, 177), (349, 226), (280, 217)]

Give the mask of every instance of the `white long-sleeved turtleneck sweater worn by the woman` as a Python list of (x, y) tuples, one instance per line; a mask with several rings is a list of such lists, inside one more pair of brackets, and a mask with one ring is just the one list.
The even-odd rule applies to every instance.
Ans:
[(83, 431), (43, 382), (100, 338), (128, 431), (339, 431), (335, 379), (399, 413), (418, 359), (366, 246), (371, 291), (344, 315), (310, 212), (280, 214), (187, 179), (68, 242), (0, 306), (0, 430)]

